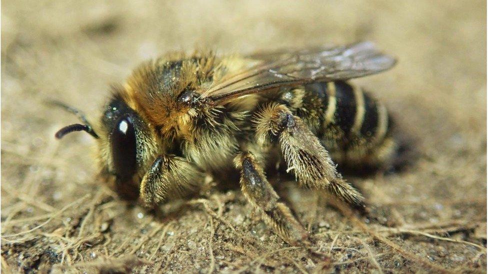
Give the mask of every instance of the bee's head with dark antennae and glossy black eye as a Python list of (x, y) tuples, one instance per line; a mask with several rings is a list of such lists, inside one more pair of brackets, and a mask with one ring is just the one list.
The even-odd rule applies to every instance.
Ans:
[[(78, 111), (79, 113), (79, 111)], [(85, 124), (69, 125), (56, 133), (56, 138), (73, 131), (86, 131), (97, 139), (100, 174), (114, 184), (126, 200), (136, 200), (143, 168), (150, 161), (154, 137), (144, 120), (122, 97), (114, 95), (105, 105), (96, 133)]]

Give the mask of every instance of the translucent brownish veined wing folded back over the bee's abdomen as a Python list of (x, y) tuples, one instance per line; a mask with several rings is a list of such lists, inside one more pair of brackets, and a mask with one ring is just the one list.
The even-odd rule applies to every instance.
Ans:
[(380, 53), (371, 42), (249, 57), (257, 64), (226, 77), (201, 96), (223, 102), (280, 86), (366, 76), (395, 64), (394, 58)]

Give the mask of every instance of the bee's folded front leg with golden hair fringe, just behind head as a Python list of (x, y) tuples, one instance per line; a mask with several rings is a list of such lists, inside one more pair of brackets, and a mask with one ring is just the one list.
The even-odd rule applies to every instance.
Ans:
[(172, 155), (159, 155), (140, 183), (140, 198), (146, 206), (154, 206), (168, 198), (182, 197), (198, 190), (204, 174), (188, 160)]

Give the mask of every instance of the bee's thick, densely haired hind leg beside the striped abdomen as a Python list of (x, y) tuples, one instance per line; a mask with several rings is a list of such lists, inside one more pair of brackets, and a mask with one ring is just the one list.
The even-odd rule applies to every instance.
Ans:
[(279, 142), (288, 170), (301, 185), (326, 189), (347, 203), (362, 205), (362, 195), (342, 179), (318, 138), (285, 105), (264, 107), (255, 126), (258, 143)]

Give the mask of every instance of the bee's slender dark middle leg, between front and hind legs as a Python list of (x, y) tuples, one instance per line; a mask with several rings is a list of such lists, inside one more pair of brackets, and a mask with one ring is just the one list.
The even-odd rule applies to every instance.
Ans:
[(259, 211), (264, 221), (288, 244), (307, 240), (308, 233), (295, 219), (264, 176), (264, 172), (250, 152), (238, 153), (234, 164), (240, 170), (240, 187), (249, 203)]

